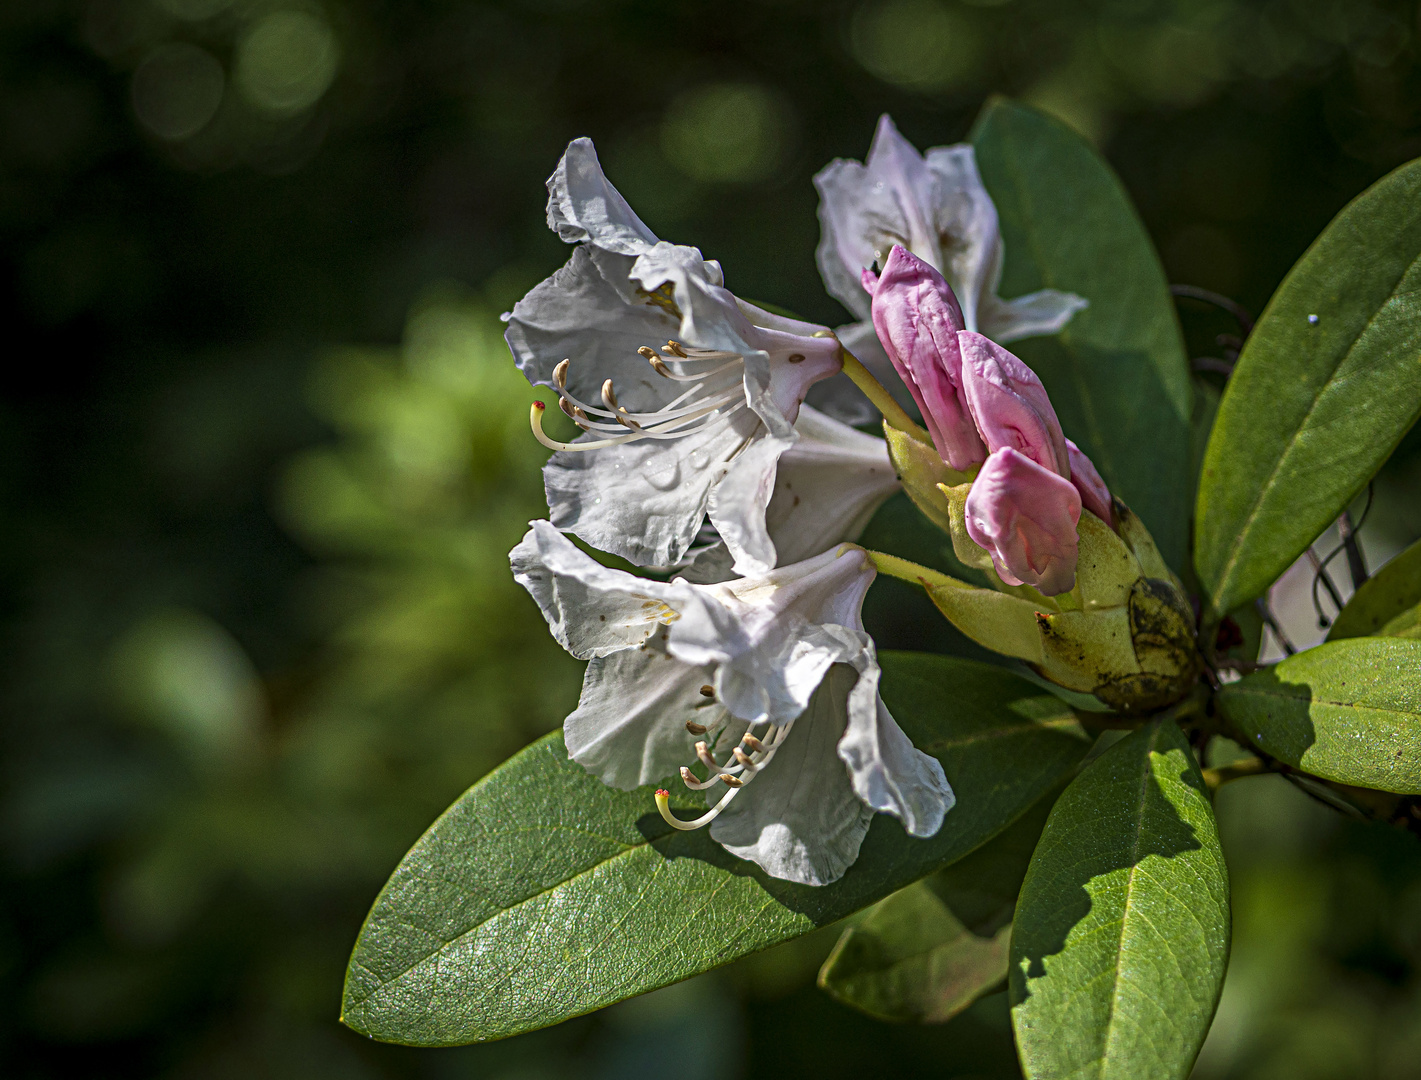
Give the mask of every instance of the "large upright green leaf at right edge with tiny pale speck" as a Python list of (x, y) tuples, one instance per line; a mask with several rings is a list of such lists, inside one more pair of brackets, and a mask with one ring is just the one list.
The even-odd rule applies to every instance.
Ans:
[(1343, 207), (1233, 368), (1195, 513), (1212, 611), (1262, 595), (1421, 414), (1418, 303), (1421, 161)]

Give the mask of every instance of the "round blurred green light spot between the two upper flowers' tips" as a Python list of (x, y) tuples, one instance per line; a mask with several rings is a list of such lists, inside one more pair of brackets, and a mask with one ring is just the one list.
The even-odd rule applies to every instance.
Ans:
[(794, 111), (769, 87), (720, 82), (671, 102), (661, 131), (666, 156), (698, 180), (755, 183), (790, 158)]

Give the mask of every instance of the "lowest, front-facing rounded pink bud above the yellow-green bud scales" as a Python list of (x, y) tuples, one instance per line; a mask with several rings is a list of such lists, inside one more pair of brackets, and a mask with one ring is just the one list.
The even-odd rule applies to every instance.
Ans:
[(972, 482), (965, 514), (968, 534), (1006, 584), (1047, 597), (1076, 584), (1080, 493), (1066, 477), (1003, 446)]

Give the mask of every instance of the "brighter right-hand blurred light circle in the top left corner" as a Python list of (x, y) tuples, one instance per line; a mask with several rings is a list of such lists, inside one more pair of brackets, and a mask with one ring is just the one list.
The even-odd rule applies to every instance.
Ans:
[(324, 20), (306, 11), (276, 11), (237, 43), (234, 78), (242, 97), (257, 108), (291, 114), (320, 101), (338, 63), (340, 47)]

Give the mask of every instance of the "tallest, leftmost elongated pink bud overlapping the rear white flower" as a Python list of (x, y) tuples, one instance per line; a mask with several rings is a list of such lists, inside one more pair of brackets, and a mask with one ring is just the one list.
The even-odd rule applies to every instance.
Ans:
[(938, 453), (958, 470), (986, 460), (962, 394), (958, 331), (965, 323), (952, 287), (899, 244), (881, 274), (864, 270), (863, 283), (872, 296), (878, 341), (918, 402)]

